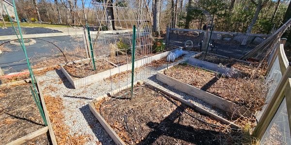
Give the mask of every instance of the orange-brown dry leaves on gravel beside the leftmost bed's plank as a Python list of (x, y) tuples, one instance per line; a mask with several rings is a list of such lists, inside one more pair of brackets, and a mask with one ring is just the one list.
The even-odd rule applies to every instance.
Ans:
[(49, 118), (52, 123), (53, 131), (59, 145), (84, 145), (90, 138), (90, 135), (70, 135), (70, 129), (64, 124), (63, 100), (60, 97), (44, 96), (46, 106), (49, 112)]

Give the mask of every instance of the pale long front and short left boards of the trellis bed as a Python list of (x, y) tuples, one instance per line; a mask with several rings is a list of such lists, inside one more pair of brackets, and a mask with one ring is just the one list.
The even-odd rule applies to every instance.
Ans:
[[(177, 49), (174, 49), (174, 50), (171, 50), (171, 51), (175, 51), (175, 50), (177, 50)], [(137, 61), (134, 62), (135, 63), (134, 67), (138, 68), (138, 67), (141, 67), (141, 66), (143, 66), (145, 64), (151, 63), (153, 60), (159, 60), (161, 58), (164, 58), (171, 51), (163, 52), (161, 54), (157, 54), (157, 55), (154, 55), (154, 56), (149, 57), (149, 58), (143, 58), (143, 59), (137, 60)], [(80, 87), (89, 85), (91, 83), (100, 81), (102, 79), (108, 78), (108, 77), (110, 77), (110, 76), (112, 76), (114, 74), (129, 71), (129, 70), (131, 70), (131, 63), (125, 64), (125, 65), (122, 65), (122, 66), (119, 66), (119, 67), (115, 66), (115, 68), (113, 68), (111, 70), (107, 70), (107, 71), (104, 71), (104, 72), (101, 72), (101, 73), (97, 73), (97, 74), (94, 74), (94, 75), (90, 75), (90, 76), (87, 76), (87, 77), (83, 77), (83, 78), (73, 78), (65, 70), (64, 65), (61, 65), (61, 70), (65, 74), (65, 77), (69, 80), (69, 82), (71, 83), (71, 85), (74, 88), (80, 88)]]

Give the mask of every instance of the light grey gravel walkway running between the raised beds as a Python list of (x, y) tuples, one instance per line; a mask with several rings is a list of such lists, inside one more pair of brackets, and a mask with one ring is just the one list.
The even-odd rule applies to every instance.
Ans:
[[(188, 58), (194, 54), (194, 52), (190, 52), (178, 62), (187, 61)], [(213, 110), (211, 105), (158, 81), (156, 79), (156, 73), (165, 67), (167, 67), (166, 64), (158, 68), (144, 67), (138, 74), (135, 74), (135, 81), (137, 79), (144, 80), (149, 84), (163, 88), (169, 92), (174, 92), (177, 96), (184, 98), (185, 100), (190, 100), (195, 105), (203, 107), (214, 114), (223, 116), (217, 110)], [(130, 77), (124, 81), (120, 81), (119, 83), (114, 83), (109, 80), (102, 80), (97, 83), (81, 87), (80, 89), (73, 89), (61, 70), (50, 71), (46, 75), (38, 76), (37, 79), (41, 82), (41, 89), (49, 86), (57, 88), (55, 91), (49, 90), (44, 92), (48, 93), (48, 95), (51, 95), (52, 97), (60, 96), (63, 99), (63, 105), (65, 107), (63, 110), (65, 124), (70, 127), (71, 135), (78, 134), (92, 136), (87, 142), (87, 145), (96, 144), (97, 142), (101, 142), (102, 145), (114, 144), (113, 140), (89, 110), (88, 102), (98, 96), (110, 92), (111, 90), (125, 86), (127, 83), (130, 83)], [(63, 83), (59, 83), (60, 81), (63, 81)]]

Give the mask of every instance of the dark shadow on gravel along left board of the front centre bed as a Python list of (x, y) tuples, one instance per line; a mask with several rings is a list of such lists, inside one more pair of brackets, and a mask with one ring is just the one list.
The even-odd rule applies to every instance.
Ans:
[(98, 141), (102, 143), (102, 145), (114, 145), (113, 140), (107, 134), (107, 132), (103, 129), (101, 124), (98, 122), (97, 118), (92, 114), (89, 109), (89, 105), (82, 106), (80, 111), (83, 117), (86, 119), (86, 122), (90, 126), (90, 129), (93, 131), (94, 135), (97, 137)]

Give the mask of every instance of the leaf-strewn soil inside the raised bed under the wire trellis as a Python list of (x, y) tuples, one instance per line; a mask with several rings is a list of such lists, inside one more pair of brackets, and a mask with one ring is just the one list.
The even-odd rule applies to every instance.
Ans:
[(64, 68), (73, 78), (82, 78), (114, 68), (113, 64), (104, 59), (96, 60), (95, 66), (96, 70), (94, 71), (92, 61), (87, 60), (83, 62), (67, 64)]

